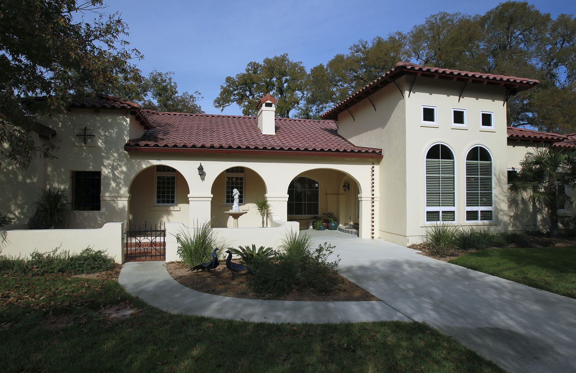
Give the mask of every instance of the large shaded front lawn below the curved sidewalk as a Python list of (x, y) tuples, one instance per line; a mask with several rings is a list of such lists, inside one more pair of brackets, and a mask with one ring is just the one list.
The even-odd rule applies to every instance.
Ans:
[[(0, 326), (2, 372), (505, 372), (424, 323), (224, 321), (164, 313), (116, 281), (0, 278), (0, 324), (14, 322)], [(126, 300), (145, 312), (93, 311)], [(74, 324), (40, 328), (50, 313)]]

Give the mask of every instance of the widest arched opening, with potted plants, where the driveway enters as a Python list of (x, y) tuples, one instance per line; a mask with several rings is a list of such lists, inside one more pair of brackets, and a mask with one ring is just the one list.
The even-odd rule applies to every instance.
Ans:
[(349, 174), (334, 169), (313, 169), (298, 174), (288, 188), (287, 218), (310, 229), (324, 213), (332, 212), (340, 227), (358, 234), (361, 187)]

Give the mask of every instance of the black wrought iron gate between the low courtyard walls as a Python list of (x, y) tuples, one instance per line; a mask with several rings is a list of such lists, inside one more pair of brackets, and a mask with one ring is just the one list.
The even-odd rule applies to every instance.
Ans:
[(126, 223), (124, 230), (124, 254), (126, 261), (166, 260), (166, 223)]

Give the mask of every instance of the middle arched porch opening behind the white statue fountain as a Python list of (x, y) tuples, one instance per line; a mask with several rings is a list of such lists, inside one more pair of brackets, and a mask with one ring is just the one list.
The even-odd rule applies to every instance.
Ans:
[(254, 170), (244, 166), (230, 167), (221, 172), (212, 184), (211, 216), (213, 227), (232, 227), (233, 218), (226, 214), (234, 203), (232, 192), (238, 189), (240, 210), (248, 211), (238, 218), (238, 227), (262, 227), (262, 217), (256, 210), (256, 201), (264, 199), (266, 184)]

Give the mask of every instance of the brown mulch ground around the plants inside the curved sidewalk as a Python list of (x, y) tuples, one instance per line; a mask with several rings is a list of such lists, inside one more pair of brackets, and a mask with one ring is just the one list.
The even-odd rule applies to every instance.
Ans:
[(314, 300), (319, 302), (346, 302), (358, 300), (380, 300), (366, 290), (351, 283), (344, 277), (344, 282), (338, 289), (331, 293), (317, 293), (313, 291), (293, 291), (290, 294), (274, 296), (272, 294), (258, 294), (249, 290), (247, 285), (248, 276), (252, 276), (247, 271), (232, 273), (226, 265), (219, 265), (216, 275), (208, 272), (190, 271), (187, 264), (181, 262), (166, 263), (168, 273), (180, 284), (196, 291), (214, 295), (230, 296), (232, 298), (245, 299), (274, 299), (274, 300)]

